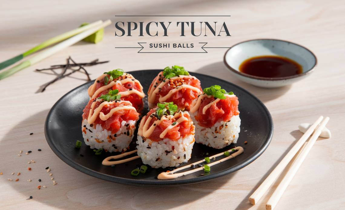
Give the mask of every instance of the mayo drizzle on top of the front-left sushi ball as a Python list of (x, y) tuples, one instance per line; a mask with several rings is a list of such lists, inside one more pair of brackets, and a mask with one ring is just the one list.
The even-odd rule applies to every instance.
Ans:
[[(133, 109), (136, 111), (136, 109), (134, 107), (132, 107), (132, 104), (131, 102), (129, 101), (111, 101), (111, 102), (107, 102), (107, 101), (104, 101), (103, 103), (99, 104), (99, 107), (97, 107), (95, 109), (95, 106), (96, 106), (96, 103), (97, 102), (101, 102), (102, 99), (97, 99), (95, 101), (92, 102), (91, 104), (91, 109), (90, 109), (90, 112), (89, 112), (89, 116), (88, 116), (88, 119), (87, 119), (87, 122), (89, 124), (92, 124), (93, 122), (95, 122), (98, 114), (99, 114), (99, 118), (103, 121), (107, 120), (108, 118), (110, 118), (115, 112), (117, 111), (120, 111), (120, 110), (129, 110), (129, 109)], [(114, 103), (120, 103), (122, 106), (119, 106), (119, 107), (115, 107), (113, 109), (110, 110), (110, 112), (108, 114), (104, 114), (103, 112), (101, 112), (102, 108), (106, 105), (112, 105)], [(94, 110), (95, 109), (95, 110)]]

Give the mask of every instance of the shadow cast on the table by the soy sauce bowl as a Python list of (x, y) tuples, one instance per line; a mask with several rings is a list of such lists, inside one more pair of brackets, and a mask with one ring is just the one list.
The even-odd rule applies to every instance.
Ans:
[[(281, 88), (274, 88), (274, 89), (255, 87), (251, 84), (243, 82), (237, 79), (236, 77), (232, 76), (230, 73), (230, 70), (227, 69), (223, 61), (211, 63), (207, 66), (204, 66), (195, 70), (195, 72), (201, 73), (201, 74), (207, 74), (207, 75), (234, 83), (237, 86), (242, 87), (246, 89), (247, 91), (249, 91), (250, 93), (252, 93), (258, 99), (260, 99), (260, 101), (262, 101), (263, 103), (267, 101), (272, 101), (274, 99), (277, 99), (283, 96), (292, 87), (292, 84), (281, 87)], [(231, 90), (227, 90), (227, 91), (231, 91)]]

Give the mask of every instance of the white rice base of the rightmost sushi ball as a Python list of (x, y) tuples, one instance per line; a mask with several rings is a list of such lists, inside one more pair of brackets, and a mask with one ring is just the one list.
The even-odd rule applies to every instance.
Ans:
[(234, 115), (228, 122), (220, 121), (219, 119), (211, 128), (205, 128), (199, 126), (198, 121), (195, 120), (198, 111), (189, 114), (195, 125), (195, 142), (216, 149), (221, 149), (237, 142), (241, 125), (239, 115)]

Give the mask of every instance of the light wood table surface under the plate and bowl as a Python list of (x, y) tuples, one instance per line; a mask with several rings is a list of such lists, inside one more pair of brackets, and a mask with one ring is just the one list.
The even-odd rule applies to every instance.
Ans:
[[(245, 0), (245, 1), (2, 1), (0, 7), (0, 61), (7, 60), (82, 22), (111, 19), (104, 39), (98, 44), (78, 42), (53, 56), (0, 81), (0, 208), (1, 209), (265, 209), (265, 204), (284, 174), (252, 206), (249, 196), (302, 136), (298, 124), (313, 123), (320, 115), (330, 117), (331, 139), (319, 138), (276, 209), (345, 208), (345, 3), (341, 0)], [(225, 21), (231, 37), (115, 37), (117, 21), (157, 21), (157, 17), (119, 15), (230, 15)], [(170, 17), (158, 21), (191, 21)], [(212, 17), (194, 18), (215, 21)], [(173, 24), (172, 23), (172, 24)], [(176, 23), (175, 23), (176, 24)], [(127, 34), (126, 34), (127, 35)], [(315, 53), (317, 69), (308, 78), (290, 86), (262, 89), (232, 77), (223, 63), (226, 49), (208, 53), (137, 53), (137, 42), (208, 42), (210, 47), (231, 47), (257, 38), (275, 38), (301, 44)], [(44, 122), (53, 104), (68, 91), (86, 82), (75, 73), (49, 86), (56, 76), (36, 72), (63, 64), (68, 56), (77, 62), (96, 58), (109, 63), (87, 67), (91, 79), (105, 71), (162, 69), (181, 65), (188, 71), (220, 77), (258, 97), (272, 114), (274, 135), (266, 151), (245, 168), (203, 183), (172, 187), (127, 186), (93, 178), (60, 160), (48, 146)], [(31, 57), (31, 56), (30, 56)], [(8, 68), (7, 68), (8, 69)], [(59, 71), (58, 71), (59, 73)], [(153, 78), (152, 78), (153, 79)], [(139, 79), (140, 80), (140, 79)], [(33, 133), (30, 135), (30, 133)], [(242, 134), (242, 132), (240, 133)], [(38, 152), (37, 149), (42, 149)], [(19, 151), (22, 156), (19, 157)], [(25, 153), (33, 152), (29, 155)], [(30, 160), (36, 163), (28, 164)], [(49, 173), (28, 167), (51, 168)], [(14, 175), (11, 173), (14, 172)], [(21, 172), (20, 176), (17, 173)], [(285, 171), (286, 172), (286, 171)], [(8, 181), (11, 178), (13, 181)], [(15, 182), (14, 180), (20, 180)], [(32, 182), (28, 182), (32, 179)], [(42, 179), (42, 182), (38, 182)], [(47, 188), (37, 189), (46, 185)], [(30, 196), (31, 200), (26, 200)]]

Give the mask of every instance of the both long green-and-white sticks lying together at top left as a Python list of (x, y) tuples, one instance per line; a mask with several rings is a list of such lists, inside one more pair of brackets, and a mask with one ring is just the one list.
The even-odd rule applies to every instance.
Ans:
[(82, 26), (78, 29), (74, 29), (72, 31), (69, 31), (69, 32), (60, 34), (59, 36), (56, 36), (54, 38), (51, 38), (51, 39), (41, 43), (37, 47), (34, 47), (31, 50), (24, 52), (23, 54), (20, 54), (17, 57), (14, 57), (12, 59), (9, 59), (7, 61), (0, 63), (0, 70), (1, 70), (1, 69), (5, 68), (7, 66), (10, 66), (11, 64), (13, 64), (19, 60), (21, 60), (23, 57), (28, 56), (29, 54), (31, 54), (33, 52), (36, 52), (36, 51), (43, 49), (43, 48), (45, 48), (45, 47), (47, 47), (53, 43), (57, 43), (59, 41), (66, 39), (65, 41), (62, 41), (59, 44), (56, 44), (55, 46), (41, 52), (37, 56), (34, 56), (34, 57), (20, 63), (19, 65), (15, 66), (11, 69), (8, 69), (7, 71), (1, 72), (0, 73), (0, 80), (4, 79), (6, 77), (9, 77), (16, 72), (18, 72), (24, 68), (27, 68), (27, 67), (29, 67), (29, 66), (31, 66), (31, 65), (39, 62), (39, 61), (51, 56), (52, 54), (58, 52), (59, 50), (67, 48), (67, 47), (71, 46), (72, 44), (75, 44), (78, 41), (85, 39), (86, 37), (90, 36), (93, 33), (96, 33), (98, 30), (100, 30), (102, 28), (109, 26), (110, 24), (111, 24), (110, 20), (106, 20), (104, 22), (99, 20), (97, 22), (90, 23), (86, 26)]

